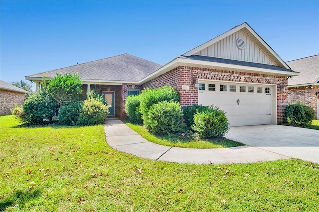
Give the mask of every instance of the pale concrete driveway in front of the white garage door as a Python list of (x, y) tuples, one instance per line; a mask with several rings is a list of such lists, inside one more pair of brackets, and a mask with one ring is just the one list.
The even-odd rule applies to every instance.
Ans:
[(319, 163), (319, 131), (282, 125), (231, 127), (227, 138), (248, 146)]

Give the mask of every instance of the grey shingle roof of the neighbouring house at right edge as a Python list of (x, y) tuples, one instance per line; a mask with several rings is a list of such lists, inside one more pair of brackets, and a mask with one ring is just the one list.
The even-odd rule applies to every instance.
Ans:
[(288, 87), (319, 85), (319, 54), (286, 62), (299, 76), (288, 79)]

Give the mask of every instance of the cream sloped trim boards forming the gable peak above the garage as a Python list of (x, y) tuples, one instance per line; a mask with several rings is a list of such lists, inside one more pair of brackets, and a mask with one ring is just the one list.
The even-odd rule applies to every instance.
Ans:
[(252, 33), (252, 35), (254, 35), (257, 38), (257, 40), (262, 45), (264, 45), (266, 47), (266, 49), (280, 62), (280, 64), (282, 64), (286, 69), (290, 69), (290, 67), (285, 63), (285, 61), (283, 61), (278, 56), (278, 54), (246, 22), (241, 24), (241, 25), (239, 25), (239, 26), (236, 26), (235, 28), (232, 28), (231, 30), (229, 30), (229, 31), (227, 31), (227, 32), (225, 32), (225, 33), (213, 38), (212, 40), (210, 40), (210, 41), (208, 41), (208, 42), (206, 42), (206, 43), (204, 43), (204, 44), (202, 44), (202, 45), (200, 45), (200, 46), (198, 46), (198, 47), (186, 52), (183, 55), (191, 56), (193, 54), (196, 54), (197, 52), (207, 48), (208, 46), (213, 45), (214, 43), (224, 39), (225, 37), (237, 32), (237, 31), (239, 31), (239, 30), (241, 30), (243, 28), (246, 28), (250, 33)]

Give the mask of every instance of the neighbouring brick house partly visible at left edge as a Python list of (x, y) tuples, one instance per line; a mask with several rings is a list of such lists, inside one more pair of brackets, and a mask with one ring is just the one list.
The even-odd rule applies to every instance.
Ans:
[(25, 99), (25, 94), (29, 93), (28, 91), (0, 80), (0, 115), (10, 114), (15, 104), (21, 106)]

